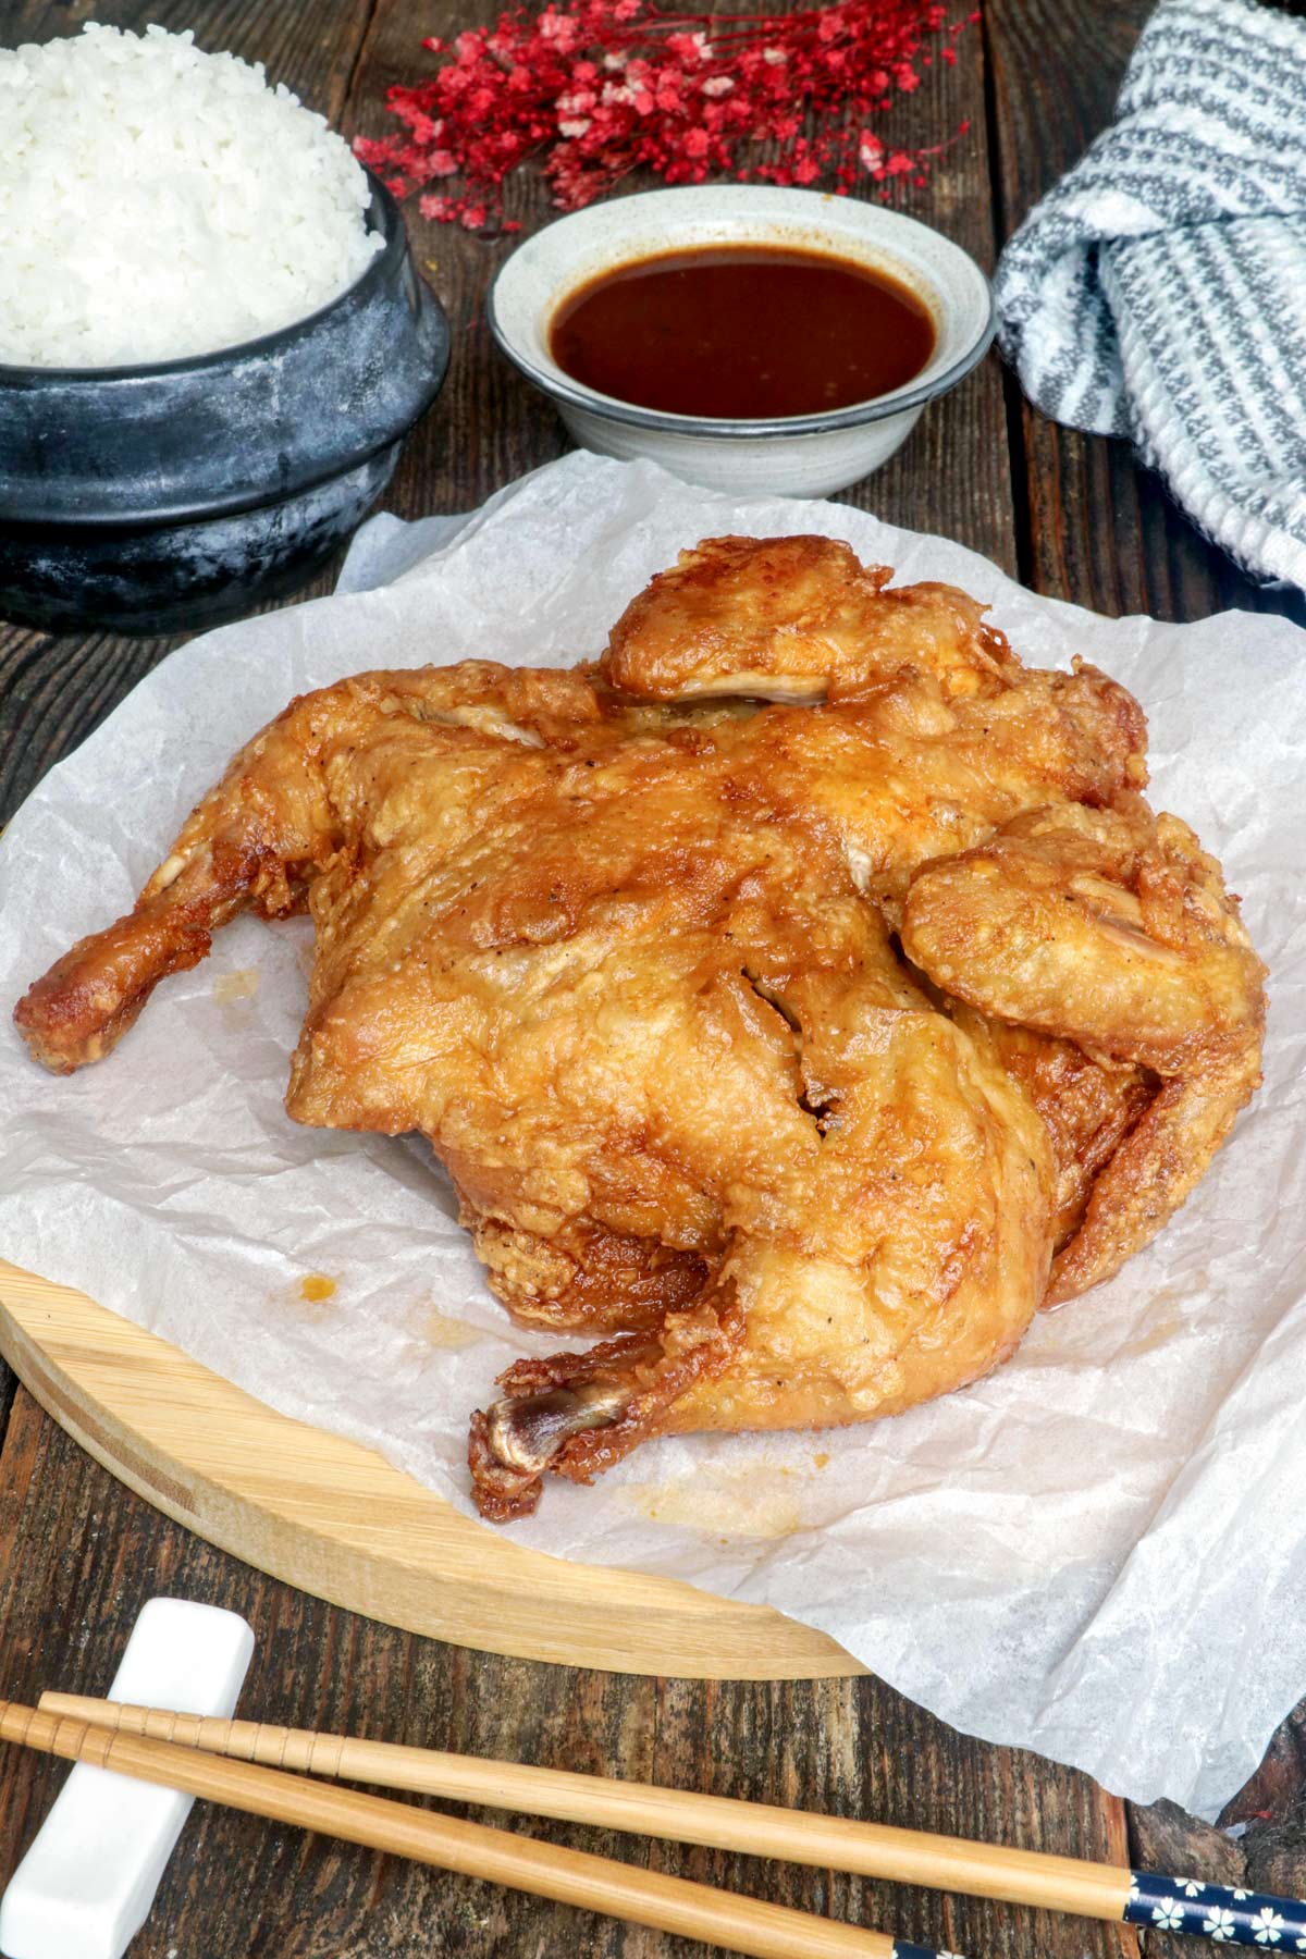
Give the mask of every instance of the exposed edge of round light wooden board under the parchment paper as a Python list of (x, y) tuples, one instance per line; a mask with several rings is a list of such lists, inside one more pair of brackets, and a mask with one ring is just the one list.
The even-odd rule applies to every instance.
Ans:
[(770, 1606), (529, 1552), (372, 1450), (276, 1414), (84, 1293), (2, 1260), (0, 1354), (139, 1497), (350, 1612), (454, 1646), (615, 1673), (863, 1671), (834, 1640)]

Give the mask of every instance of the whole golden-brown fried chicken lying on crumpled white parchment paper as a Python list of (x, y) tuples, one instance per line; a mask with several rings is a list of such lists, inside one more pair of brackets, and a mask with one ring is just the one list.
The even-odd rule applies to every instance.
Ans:
[(16, 1011), (69, 1072), (237, 911), (311, 911), (290, 1115), (421, 1130), (509, 1313), (603, 1336), (474, 1414), (491, 1518), (975, 1379), (1257, 1085), (1263, 968), (1136, 701), (889, 578), (709, 539), (597, 666), (309, 693)]

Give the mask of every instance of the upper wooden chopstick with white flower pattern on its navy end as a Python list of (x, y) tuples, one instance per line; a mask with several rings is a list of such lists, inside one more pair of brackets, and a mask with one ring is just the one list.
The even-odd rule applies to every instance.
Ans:
[[(380, 1783), (452, 1802), (523, 1810), (564, 1822), (630, 1830), (676, 1843), (705, 1843), (789, 1863), (815, 1863), (934, 1890), (961, 1890), (1008, 1904), (1077, 1912), (1114, 1924), (1189, 1932), (1261, 1951), (1306, 1949), (1306, 1904), (1261, 1892), (1198, 1885), (1192, 1879), (1126, 1871), (1112, 1863), (1055, 1857), (963, 1838), (928, 1836), (889, 1824), (783, 1810), (728, 1796), (705, 1796), (652, 1783), (623, 1783), (566, 1769), (448, 1755), (394, 1742), (364, 1742), (311, 1728), (268, 1728), (249, 1720), (213, 1720), (125, 1706), (82, 1695), (41, 1695), (41, 1708), (112, 1726), (119, 1734), (157, 1736), (243, 1761), (302, 1769), (311, 1775)], [(899, 1953), (910, 1947), (899, 1943)]]

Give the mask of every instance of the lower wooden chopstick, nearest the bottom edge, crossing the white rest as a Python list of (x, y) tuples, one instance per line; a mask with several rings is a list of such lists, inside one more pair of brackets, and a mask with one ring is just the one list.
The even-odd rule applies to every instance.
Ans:
[(881, 1932), (862, 1932), (783, 1904), (742, 1898), (732, 1890), (713, 1890), (709, 1885), (640, 1871), (609, 1857), (591, 1857), (507, 1830), (488, 1830), (484, 1824), (439, 1816), (386, 1796), (364, 1796), (282, 1769), (227, 1761), (176, 1742), (119, 1734), (84, 1718), (18, 1706), (12, 1700), (0, 1700), (0, 1742), (18, 1742), (67, 1761), (88, 1761), (251, 1816), (268, 1816), (443, 1871), (531, 1890), (560, 1904), (629, 1918), (656, 1932), (752, 1953), (754, 1959), (938, 1959), (926, 1947), (895, 1945)]

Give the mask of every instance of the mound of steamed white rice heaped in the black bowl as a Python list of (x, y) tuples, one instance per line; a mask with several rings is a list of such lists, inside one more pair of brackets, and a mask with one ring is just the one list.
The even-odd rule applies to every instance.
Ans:
[(211, 353), (303, 319), (380, 251), (349, 145), (190, 33), (0, 49), (0, 362)]

